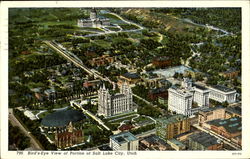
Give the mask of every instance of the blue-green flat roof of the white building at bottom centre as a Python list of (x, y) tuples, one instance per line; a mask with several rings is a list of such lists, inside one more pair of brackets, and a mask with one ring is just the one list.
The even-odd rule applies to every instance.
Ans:
[(125, 142), (130, 142), (130, 141), (135, 141), (138, 140), (132, 133), (130, 132), (122, 132), (116, 135), (112, 135), (110, 136), (110, 138), (112, 140), (114, 140), (115, 142), (122, 144)]

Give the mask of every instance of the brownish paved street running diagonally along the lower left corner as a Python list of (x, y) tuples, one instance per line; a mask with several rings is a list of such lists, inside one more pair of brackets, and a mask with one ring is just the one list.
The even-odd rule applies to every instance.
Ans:
[(37, 141), (34, 139), (34, 136), (30, 134), (23, 126), (22, 124), (17, 120), (17, 118), (13, 114), (13, 109), (9, 109), (9, 120), (13, 126), (18, 126), (21, 131), (30, 138), (30, 147), (32, 147), (35, 150), (42, 150), (40, 145), (37, 143)]

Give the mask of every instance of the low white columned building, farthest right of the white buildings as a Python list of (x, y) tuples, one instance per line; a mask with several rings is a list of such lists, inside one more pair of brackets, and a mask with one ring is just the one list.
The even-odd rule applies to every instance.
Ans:
[(216, 85), (209, 87), (209, 98), (218, 102), (234, 103), (236, 101), (236, 90), (227, 88), (225, 86)]

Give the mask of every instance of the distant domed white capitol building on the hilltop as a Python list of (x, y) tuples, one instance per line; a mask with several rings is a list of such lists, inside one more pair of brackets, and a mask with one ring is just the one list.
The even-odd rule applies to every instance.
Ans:
[(91, 9), (89, 19), (78, 19), (78, 27), (101, 27), (110, 25), (110, 20), (108, 18), (100, 18), (97, 15), (96, 9)]

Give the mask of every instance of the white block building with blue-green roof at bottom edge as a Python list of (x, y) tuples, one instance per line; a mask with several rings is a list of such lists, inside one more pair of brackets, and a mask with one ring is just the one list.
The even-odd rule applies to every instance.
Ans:
[(130, 132), (122, 132), (110, 136), (109, 146), (114, 151), (137, 151), (139, 140)]

